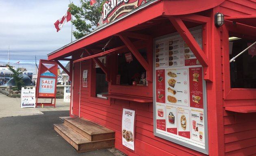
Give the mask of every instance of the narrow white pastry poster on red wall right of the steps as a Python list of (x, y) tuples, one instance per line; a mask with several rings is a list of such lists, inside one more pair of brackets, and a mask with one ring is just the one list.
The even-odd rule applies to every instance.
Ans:
[(123, 109), (122, 114), (122, 144), (135, 150), (135, 111), (130, 109)]

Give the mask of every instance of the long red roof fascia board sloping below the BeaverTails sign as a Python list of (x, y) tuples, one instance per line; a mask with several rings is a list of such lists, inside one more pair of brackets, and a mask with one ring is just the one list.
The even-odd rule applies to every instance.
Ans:
[[(89, 35), (83, 37), (82, 39), (78, 39), (78, 41), (70, 43), (63, 48), (60, 48), (59, 50), (48, 54), (48, 60), (53, 60), (80, 48), (85, 48), (87, 45), (105, 39), (112, 35), (116, 35), (119, 32), (127, 30), (128, 28), (137, 26), (141, 23), (147, 22), (151, 19), (163, 15), (163, 3), (161, 3), (161, 1), (152, 2), (154, 2), (154, 5), (148, 5), (146, 9), (140, 9), (139, 13), (133, 13), (130, 16), (126, 16), (125, 20), (114, 21), (111, 26), (106, 26), (104, 27), (104, 29), (92, 32)], [(152, 2), (150, 2), (149, 4), (151, 4)]]

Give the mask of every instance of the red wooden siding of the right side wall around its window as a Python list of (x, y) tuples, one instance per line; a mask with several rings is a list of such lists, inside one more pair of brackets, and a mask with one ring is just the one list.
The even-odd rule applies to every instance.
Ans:
[[(220, 6), (220, 12), (226, 16), (252, 15), (256, 13), (254, 0), (226, 0)], [(221, 32), (221, 75), (223, 97), (229, 93), (230, 77), (229, 57), (227, 47), (227, 29)], [(223, 34), (224, 33), (224, 34)], [(225, 90), (226, 89), (226, 90)], [(236, 95), (243, 96), (243, 95)], [(224, 100), (223, 99), (223, 126), (226, 156), (249, 156), (256, 154), (256, 113), (234, 113), (225, 111), (225, 106), (254, 105), (256, 100)]]

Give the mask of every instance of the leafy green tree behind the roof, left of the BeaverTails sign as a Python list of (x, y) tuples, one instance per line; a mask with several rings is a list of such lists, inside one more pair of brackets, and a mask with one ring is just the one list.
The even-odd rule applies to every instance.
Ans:
[(94, 30), (100, 16), (102, 15), (102, 6), (106, 0), (97, 0), (95, 6), (90, 6), (90, 0), (80, 0), (81, 6), (76, 6), (74, 3), (69, 4), (69, 12), (76, 18), (71, 20), (77, 31), (73, 32), (74, 37), (79, 39)]

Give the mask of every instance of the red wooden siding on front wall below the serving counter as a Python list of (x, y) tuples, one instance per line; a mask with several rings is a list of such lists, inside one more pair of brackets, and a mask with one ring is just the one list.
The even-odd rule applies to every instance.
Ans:
[[(82, 62), (81, 72), (88, 69), (88, 86), (91, 81), (90, 61)], [(190, 150), (187, 147), (171, 143), (154, 136), (153, 104), (139, 103), (127, 100), (111, 99), (111, 106), (89, 101), (89, 87), (82, 87), (80, 117), (96, 121), (115, 130), (115, 147), (129, 156), (202, 156), (204, 154)], [(121, 141), (121, 119), (123, 108), (135, 109), (136, 117), (136, 153), (126, 150)]]

